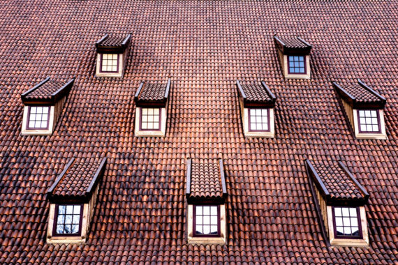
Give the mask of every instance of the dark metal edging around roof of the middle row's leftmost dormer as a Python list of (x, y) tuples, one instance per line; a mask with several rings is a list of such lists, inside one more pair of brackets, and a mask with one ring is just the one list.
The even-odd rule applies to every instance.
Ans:
[(47, 96), (47, 98), (27, 98), (27, 96), (29, 96), (29, 93), (38, 89), (40, 86), (45, 84), (45, 82), (47, 82), (48, 80), (50, 80), (50, 77), (47, 77), (45, 80), (43, 80), (42, 82), (40, 82), (39, 84), (34, 86), (33, 89), (29, 89), (28, 91), (22, 93), (21, 94), (22, 103), (33, 104), (33, 105), (36, 105), (36, 104), (38, 104), (38, 105), (40, 105), (40, 104), (41, 105), (43, 105), (43, 104), (54, 105), (61, 98), (64, 98), (64, 96), (68, 95), (69, 91), (71, 91), (73, 83), (75, 82), (75, 78), (73, 77), (66, 84), (64, 84), (64, 86), (61, 86), (61, 88), (59, 88), (57, 91), (52, 93), (50, 96)]

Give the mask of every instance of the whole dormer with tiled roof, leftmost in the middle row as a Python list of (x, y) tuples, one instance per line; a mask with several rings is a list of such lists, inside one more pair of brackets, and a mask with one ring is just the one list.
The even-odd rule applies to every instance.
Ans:
[(51, 135), (75, 79), (60, 82), (47, 77), (22, 93), (22, 135)]

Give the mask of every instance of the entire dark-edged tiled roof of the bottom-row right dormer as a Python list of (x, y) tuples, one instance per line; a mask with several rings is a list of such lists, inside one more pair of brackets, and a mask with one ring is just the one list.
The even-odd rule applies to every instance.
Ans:
[(332, 163), (306, 160), (306, 164), (309, 175), (327, 203), (363, 205), (367, 202), (369, 194), (341, 161)]

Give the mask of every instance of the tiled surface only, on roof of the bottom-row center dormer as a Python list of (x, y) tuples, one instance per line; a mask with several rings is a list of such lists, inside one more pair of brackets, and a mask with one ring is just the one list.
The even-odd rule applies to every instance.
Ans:
[(190, 197), (223, 197), (219, 160), (193, 159)]

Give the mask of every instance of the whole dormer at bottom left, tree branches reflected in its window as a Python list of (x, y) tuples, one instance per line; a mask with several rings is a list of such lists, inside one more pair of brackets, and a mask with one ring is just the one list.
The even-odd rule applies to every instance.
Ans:
[(50, 200), (47, 243), (86, 241), (105, 166), (106, 158), (69, 160), (47, 191)]

